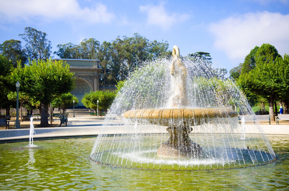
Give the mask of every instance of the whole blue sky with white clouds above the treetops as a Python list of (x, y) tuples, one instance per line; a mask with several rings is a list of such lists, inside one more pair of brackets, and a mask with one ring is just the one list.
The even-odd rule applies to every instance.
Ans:
[(24, 46), (18, 34), (25, 27), (47, 33), (52, 53), (58, 44), (139, 33), (168, 41), (169, 49), (179, 46), (182, 56), (208, 52), (228, 71), (263, 43), (289, 54), (289, 0), (0, 0), (0, 43), (16, 39)]

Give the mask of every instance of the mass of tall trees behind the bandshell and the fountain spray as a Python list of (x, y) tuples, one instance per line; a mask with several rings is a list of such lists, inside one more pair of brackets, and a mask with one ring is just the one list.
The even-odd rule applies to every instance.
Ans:
[(133, 37), (119, 36), (111, 42), (90, 38), (79, 45), (72, 43), (59, 44), (54, 54), (69, 59), (99, 59), (100, 81), (104, 84), (115, 84), (126, 79), (131, 72), (140, 67), (140, 63), (158, 57), (170, 57), (167, 41), (149, 41), (135, 33)]

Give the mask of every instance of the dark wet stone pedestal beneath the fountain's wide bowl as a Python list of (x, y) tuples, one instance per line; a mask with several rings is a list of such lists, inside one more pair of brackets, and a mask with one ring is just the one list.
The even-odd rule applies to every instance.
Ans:
[(189, 126), (170, 126), (166, 130), (171, 134), (170, 138), (162, 143), (157, 154), (163, 156), (197, 156), (202, 149), (199, 144), (190, 139), (192, 128)]

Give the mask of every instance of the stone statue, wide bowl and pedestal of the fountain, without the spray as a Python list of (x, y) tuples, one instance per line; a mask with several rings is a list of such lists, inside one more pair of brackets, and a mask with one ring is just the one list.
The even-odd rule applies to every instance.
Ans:
[[(163, 123), (168, 128), (170, 138), (158, 148), (158, 155), (191, 156), (202, 152), (199, 144), (190, 139), (191, 125), (200, 125), (207, 120), (217, 117), (236, 117), (238, 114), (232, 109), (223, 108), (184, 108), (187, 104), (186, 76), (187, 69), (179, 58), (179, 48), (173, 47), (173, 61), (170, 67), (173, 76), (173, 95), (168, 102), (170, 109), (140, 109), (125, 112), (125, 118), (142, 118), (156, 124)], [(188, 124), (187, 121), (190, 121)]]

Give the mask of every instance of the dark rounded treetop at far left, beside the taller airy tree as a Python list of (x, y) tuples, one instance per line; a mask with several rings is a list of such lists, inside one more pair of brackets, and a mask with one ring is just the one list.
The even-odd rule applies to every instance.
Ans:
[(20, 40), (6, 40), (0, 44), (0, 53), (13, 63), (14, 68), (17, 67), (17, 61), (21, 60), (22, 67), (27, 62), (27, 56), (22, 50)]

